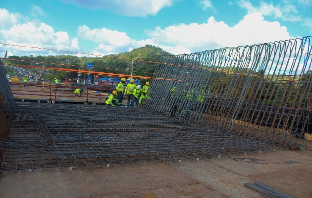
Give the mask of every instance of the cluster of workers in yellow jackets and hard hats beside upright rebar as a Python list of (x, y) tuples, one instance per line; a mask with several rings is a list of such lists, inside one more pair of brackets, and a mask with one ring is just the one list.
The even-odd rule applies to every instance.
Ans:
[[(113, 91), (112, 94), (108, 96), (106, 99), (107, 105), (121, 105), (123, 96), (127, 96), (127, 106), (128, 107), (141, 107), (142, 100), (151, 99), (149, 96), (149, 85), (150, 82), (146, 82), (146, 84), (141, 89), (141, 85), (134, 84), (134, 79), (130, 79), (130, 83), (126, 86), (124, 90), (124, 83), (126, 82), (125, 78), (122, 78), (119, 84), (116, 87), (116, 91)], [(117, 99), (114, 97), (117, 96)], [(130, 100), (132, 99), (131, 103)]]

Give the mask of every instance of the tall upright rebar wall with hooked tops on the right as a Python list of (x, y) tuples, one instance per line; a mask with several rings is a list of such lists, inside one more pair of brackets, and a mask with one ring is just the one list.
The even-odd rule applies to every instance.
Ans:
[(308, 37), (162, 56), (159, 62), (145, 108), (283, 147), (306, 145), (312, 133)]

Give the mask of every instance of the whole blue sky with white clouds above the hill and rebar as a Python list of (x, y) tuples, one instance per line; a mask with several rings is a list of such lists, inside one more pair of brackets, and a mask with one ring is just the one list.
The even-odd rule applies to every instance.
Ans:
[(182, 54), (304, 36), (312, 36), (312, 0), (0, 0), (0, 57), (65, 54), (12, 45)]

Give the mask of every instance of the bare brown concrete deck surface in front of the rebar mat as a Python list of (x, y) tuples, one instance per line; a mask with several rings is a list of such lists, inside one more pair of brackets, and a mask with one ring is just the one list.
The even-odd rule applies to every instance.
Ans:
[(261, 182), (294, 198), (312, 198), (312, 151), (7, 171), (0, 175), (0, 198), (262, 198), (245, 182)]

